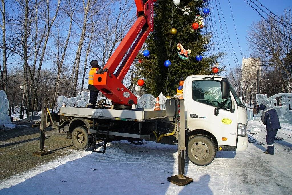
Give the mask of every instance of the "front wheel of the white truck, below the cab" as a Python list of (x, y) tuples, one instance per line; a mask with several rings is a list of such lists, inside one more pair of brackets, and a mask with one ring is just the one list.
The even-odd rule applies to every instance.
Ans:
[(196, 135), (187, 144), (187, 154), (195, 165), (207, 166), (215, 158), (216, 146), (208, 136)]

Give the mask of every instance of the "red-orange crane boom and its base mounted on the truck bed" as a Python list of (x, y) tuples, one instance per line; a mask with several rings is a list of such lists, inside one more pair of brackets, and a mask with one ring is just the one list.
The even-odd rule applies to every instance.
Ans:
[[(97, 69), (95, 74), (93, 74), (93, 85), (107, 98), (112, 100), (114, 105), (130, 106), (137, 104), (137, 97), (124, 86), (122, 81), (147, 36), (153, 31), (153, 0), (135, 0), (135, 3), (138, 16), (136, 22), (109, 58), (105, 67), (103, 69)], [(130, 51), (126, 55), (129, 49)], [(119, 69), (113, 74), (120, 62)]]

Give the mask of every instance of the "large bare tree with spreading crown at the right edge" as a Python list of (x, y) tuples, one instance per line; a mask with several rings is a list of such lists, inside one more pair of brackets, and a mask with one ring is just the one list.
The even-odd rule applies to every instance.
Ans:
[[(291, 23), (291, 10), (285, 10), (282, 17), (283, 20)], [(279, 79), (285, 92), (292, 88), (289, 85), (292, 81), (291, 73), (285, 67), (283, 60), (291, 50), (291, 38), (291, 29), (275, 22), (273, 18), (253, 24), (253, 28), (248, 31), (247, 37), (248, 46), (254, 57), (263, 61), (264, 65), (274, 67), (275, 70), (279, 71)], [(287, 78), (284, 78), (283, 72), (286, 73)]]

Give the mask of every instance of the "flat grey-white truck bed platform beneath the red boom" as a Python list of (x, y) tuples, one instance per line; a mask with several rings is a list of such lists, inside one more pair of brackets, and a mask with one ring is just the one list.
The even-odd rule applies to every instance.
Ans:
[(60, 107), (59, 115), (75, 116), (82, 118), (145, 122), (146, 120), (166, 118), (166, 110), (155, 111), (150, 109), (111, 110), (81, 107)]

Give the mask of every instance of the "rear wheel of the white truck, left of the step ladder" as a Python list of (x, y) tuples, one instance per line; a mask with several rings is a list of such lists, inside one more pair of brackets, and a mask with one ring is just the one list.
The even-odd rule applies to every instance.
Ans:
[(92, 135), (88, 134), (87, 128), (85, 126), (76, 127), (72, 132), (71, 140), (77, 149), (86, 149), (93, 141)]

